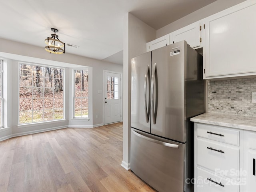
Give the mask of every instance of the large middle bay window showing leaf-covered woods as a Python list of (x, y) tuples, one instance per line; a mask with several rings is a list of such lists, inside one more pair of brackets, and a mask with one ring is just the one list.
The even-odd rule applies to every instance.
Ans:
[(64, 118), (64, 69), (20, 63), (19, 124)]

